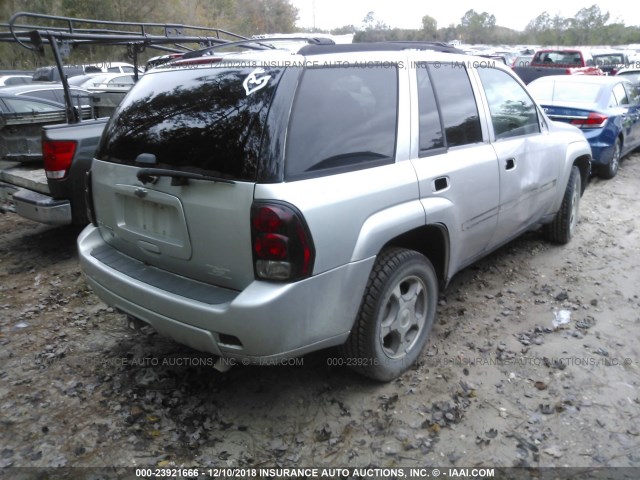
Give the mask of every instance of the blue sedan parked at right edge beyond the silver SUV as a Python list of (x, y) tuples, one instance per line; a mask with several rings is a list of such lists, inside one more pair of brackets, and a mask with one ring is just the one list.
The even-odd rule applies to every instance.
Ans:
[(613, 178), (622, 157), (640, 146), (640, 91), (624, 77), (554, 75), (527, 89), (550, 119), (582, 130), (600, 177)]

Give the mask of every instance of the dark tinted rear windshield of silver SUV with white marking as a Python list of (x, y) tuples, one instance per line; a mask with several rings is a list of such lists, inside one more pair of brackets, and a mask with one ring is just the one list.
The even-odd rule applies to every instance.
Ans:
[(144, 75), (120, 104), (97, 158), (255, 180), (263, 126), (281, 69), (219, 64)]

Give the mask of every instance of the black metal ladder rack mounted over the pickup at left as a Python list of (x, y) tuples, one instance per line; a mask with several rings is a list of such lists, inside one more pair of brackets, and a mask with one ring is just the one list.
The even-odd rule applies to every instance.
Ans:
[[(18, 23), (20, 20), (22, 23)], [(29, 23), (29, 22), (36, 23)], [(40, 24), (38, 24), (38, 22)], [(42, 25), (47, 23), (47, 25)], [(0, 41), (16, 42), (22, 47), (44, 54), (45, 45), (53, 52), (65, 93), (67, 121), (80, 121), (74, 110), (69, 84), (64, 75), (60, 45), (67, 48), (79, 45), (126, 45), (127, 54), (133, 60), (135, 80), (138, 80), (138, 54), (146, 48), (171, 53), (185, 53), (194, 49), (248, 40), (226, 30), (182, 24), (118, 22), (87, 18), (62, 17), (42, 13), (18, 12), (0, 31)], [(227, 37), (227, 38), (224, 38)], [(196, 44), (194, 48), (187, 44)]]

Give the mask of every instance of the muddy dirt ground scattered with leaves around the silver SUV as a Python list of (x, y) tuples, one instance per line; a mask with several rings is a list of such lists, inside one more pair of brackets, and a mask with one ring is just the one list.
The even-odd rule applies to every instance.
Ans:
[(640, 154), (580, 210), (458, 274), (388, 384), (333, 351), (219, 373), (93, 295), (78, 229), (0, 215), (0, 467), (638, 467)]

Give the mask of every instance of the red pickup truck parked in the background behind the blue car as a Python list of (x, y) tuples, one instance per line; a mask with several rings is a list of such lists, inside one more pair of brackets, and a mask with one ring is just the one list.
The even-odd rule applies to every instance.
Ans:
[(513, 70), (526, 84), (548, 75), (604, 75), (591, 53), (581, 49), (538, 50), (529, 65)]

